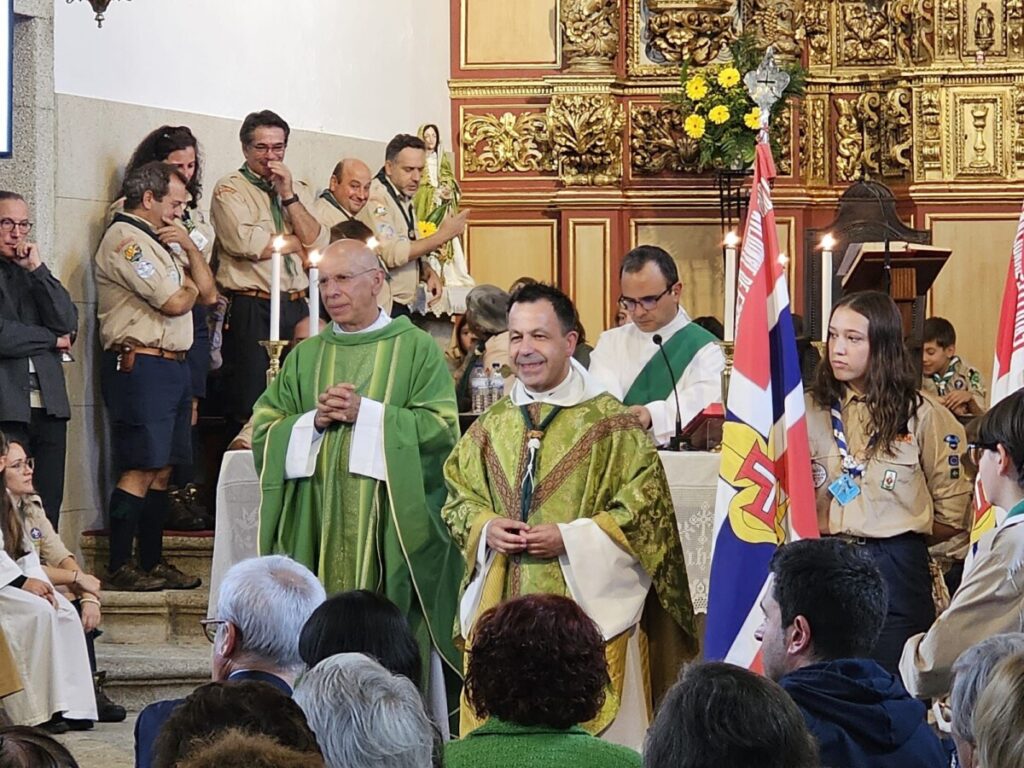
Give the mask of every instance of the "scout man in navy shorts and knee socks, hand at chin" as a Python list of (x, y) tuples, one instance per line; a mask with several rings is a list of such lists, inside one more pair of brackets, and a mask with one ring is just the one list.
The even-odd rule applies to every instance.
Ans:
[[(171, 468), (191, 462), (190, 312), (197, 301), (216, 301), (217, 287), (179, 223), (188, 200), (180, 172), (146, 163), (123, 188), (124, 213), (114, 216), (95, 255), (100, 385), (118, 472), (104, 587), (194, 589), (200, 580), (163, 559), (164, 521)], [(136, 532), (141, 570), (132, 562)]]

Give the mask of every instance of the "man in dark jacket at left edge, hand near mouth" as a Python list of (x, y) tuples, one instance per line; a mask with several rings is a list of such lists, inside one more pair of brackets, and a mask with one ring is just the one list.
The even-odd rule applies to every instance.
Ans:
[(30, 231), (25, 198), (0, 191), (0, 431), (35, 457), (39, 496), (56, 529), (71, 418), (60, 356), (78, 332), (78, 309)]

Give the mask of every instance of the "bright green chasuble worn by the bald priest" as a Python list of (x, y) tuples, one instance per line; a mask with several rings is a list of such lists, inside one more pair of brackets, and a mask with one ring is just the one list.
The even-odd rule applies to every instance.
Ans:
[[(324, 390), (343, 382), (384, 403), (387, 482), (349, 473), (347, 424), (325, 431), (311, 477), (285, 479), (296, 421), (315, 409)], [(407, 317), (366, 333), (337, 334), (328, 326), (288, 354), (254, 409), (260, 554), (293, 557), (329, 595), (353, 589), (386, 595), (408, 616), (424, 671), (433, 646), (445, 672), (461, 675), (451, 628), (463, 563), (438, 514), (445, 498), (441, 470), (458, 437), (444, 356)]]

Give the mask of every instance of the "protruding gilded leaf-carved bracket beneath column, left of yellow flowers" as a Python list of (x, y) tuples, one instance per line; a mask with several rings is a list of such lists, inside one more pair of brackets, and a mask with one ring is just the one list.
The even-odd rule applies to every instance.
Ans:
[(605, 186), (623, 177), (623, 105), (607, 94), (555, 94), (548, 129), (566, 186)]

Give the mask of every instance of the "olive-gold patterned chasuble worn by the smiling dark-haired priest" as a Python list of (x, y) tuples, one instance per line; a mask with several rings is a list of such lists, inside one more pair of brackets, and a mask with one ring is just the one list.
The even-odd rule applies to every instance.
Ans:
[[(529, 408), (540, 410), (531, 415), (538, 424), (553, 407)], [(441, 516), (466, 559), (463, 590), (473, 575), (468, 571), (476, 562), (486, 522), (497, 517), (521, 519), (526, 443), (522, 414), (505, 397), (470, 427), (444, 465), (449, 501)], [(649, 703), (660, 700), (682, 664), (695, 654), (697, 641), (672, 497), (654, 445), (618, 400), (598, 394), (561, 410), (550, 422), (535, 476), (530, 524), (591, 518), (639, 560), (650, 577), (651, 591), (640, 621), (641, 647), (646, 644), (649, 651)], [(493, 554), (477, 615), (517, 595), (571, 597), (557, 558)], [(591, 732), (603, 730), (617, 713), (627, 634), (607, 642), (612, 684), (601, 714), (585, 724)], [(456, 636), (460, 644), (466, 644), (458, 623)], [(471, 644), (472, 638), (468, 641)], [(464, 708), (463, 735), (466, 727)]]

